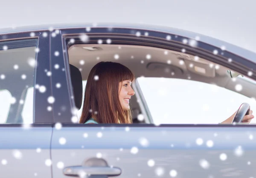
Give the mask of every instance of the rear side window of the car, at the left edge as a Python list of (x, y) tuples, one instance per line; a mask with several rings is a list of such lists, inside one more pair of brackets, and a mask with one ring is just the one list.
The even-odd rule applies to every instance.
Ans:
[(33, 123), (37, 45), (37, 39), (0, 41), (0, 123), (2, 124)]

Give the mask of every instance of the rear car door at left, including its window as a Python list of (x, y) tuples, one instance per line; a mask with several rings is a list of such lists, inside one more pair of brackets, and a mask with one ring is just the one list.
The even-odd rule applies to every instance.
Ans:
[(50, 178), (49, 32), (0, 34), (0, 177)]

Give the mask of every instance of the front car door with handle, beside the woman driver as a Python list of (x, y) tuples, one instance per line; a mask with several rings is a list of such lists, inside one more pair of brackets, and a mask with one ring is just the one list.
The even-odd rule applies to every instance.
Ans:
[[(84, 32), (86, 36), (82, 36)], [(254, 61), (244, 59), (248, 54), (252, 55), (250, 52), (239, 57), (231, 53), (232, 50), (224, 51), (219, 46), (222, 45), (220, 41), (216, 43), (216, 40), (204, 36), (200, 36), (200, 41), (197, 35), (173, 29), (166, 32), (146, 27), (97, 26), (61, 30), (61, 35), (57, 35), (51, 45), (52, 52), (62, 51), (55, 57), (52, 53), (52, 66), (58, 63), (60, 69), (64, 68), (62, 72), (59, 68), (56, 69), (55, 73), (58, 75), (52, 75), (55, 78), (52, 80), (61, 83), (63, 87), (62, 94), (58, 93), (57, 88), (53, 89), (53, 95), (56, 96), (54, 107), (57, 108), (54, 111), (56, 117), (51, 142), (53, 178), (253, 177), (256, 174), (251, 168), (256, 152), (256, 143), (253, 141), (255, 125), (155, 125), (151, 122), (145, 103), (142, 106), (151, 124), (78, 124), (78, 118), (73, 112), (79, 106), (76, 102), (78, 90), (74, 89), (74, 80), (72, 81), (73, 72), (68, 67), (67, 48), (73, 44), (105, 43), (111, 39), (111, 44), (117, 45), (136, 44), (186, 51), (188, 54), (204, 56), (243, 75), (247, 75), (248, 70), (256, 69)], [(90, 40), (79, 41), (78, 36), (80, 39), (90, 37)], [(194, 46), (194, 43), (197, 45)], [(227, 46), (230, 49), (232, 47)], [(234, 47), (233, 50), (235, 49)], [(237, 51), (239, 54), (241, 52), (244, 51)], [(233, 63), (229, 62), (230, 58)], [(86, 60), (83, 65), (86, 65)], [(255, 79), (254, 74), (250, 77)], [(182, 118), (182, 113), (180, 117)]]

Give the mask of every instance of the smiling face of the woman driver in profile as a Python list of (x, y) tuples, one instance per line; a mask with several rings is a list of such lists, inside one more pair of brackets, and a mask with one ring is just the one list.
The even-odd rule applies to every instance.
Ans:
[(119, 100), (122, 105), (122, 109), (129, 110), (129, 101), (131, 99), (131, 96), (135, 94), (134, 90), (131, 88), (131, 81), (130, 80), (124, 80), (122, 82), (119, 82)]

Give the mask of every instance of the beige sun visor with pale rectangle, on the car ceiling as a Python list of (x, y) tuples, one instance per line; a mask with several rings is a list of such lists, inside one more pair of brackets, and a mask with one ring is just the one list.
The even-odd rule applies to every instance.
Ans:
[(189, 72), (196, 73), (198, 75), (203, 75), (205, 77), (214, 78), (215, 68), (210, 67), (209, 64), (199, 63), (192, 60), (182, 59), (185, 62), (186, 68)]

